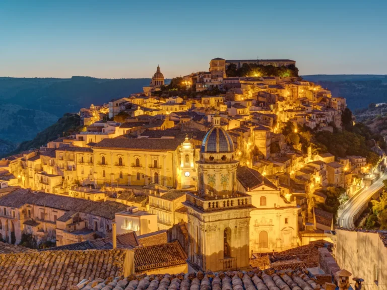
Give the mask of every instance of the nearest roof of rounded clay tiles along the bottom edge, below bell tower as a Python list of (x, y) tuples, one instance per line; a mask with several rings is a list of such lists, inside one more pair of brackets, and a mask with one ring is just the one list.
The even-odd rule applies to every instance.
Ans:
[[(145, 276), (129, 276), (124, 279), (119, 277), (97, 281), (84, 281), (74, 289), (119, 289), (119, 290), (268, 290), (268, 289), (320, 289), (321, 285), (312, 280), (306, 269), (281, 270), (266, 269), (261, 271), (227, 271), (227, 272), (202, 272), (189, 274), (158, 274)], [(97, 285), (98, 284), (98, 285)], [(108, 285), (108, 286), (107, 286)], [(106, 288), (105, 288), (106, 286)]]

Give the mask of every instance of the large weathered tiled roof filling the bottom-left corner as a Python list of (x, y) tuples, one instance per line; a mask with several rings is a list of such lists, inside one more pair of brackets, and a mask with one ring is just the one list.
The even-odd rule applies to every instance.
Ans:
[(0, 255), (0, 289), (70, 289), (83, 279), (124, 274), (127, 250), (46, 251)]

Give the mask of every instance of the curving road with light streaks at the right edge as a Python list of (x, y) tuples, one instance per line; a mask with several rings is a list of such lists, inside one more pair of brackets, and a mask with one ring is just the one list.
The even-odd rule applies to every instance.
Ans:
[(387, 179), (387, 172), (384, 172), (378, 180), (368, 188), (363, 189), (352, 198), (350, 198), (337, 220), (339, 227), (355, 229), (355, 215), (361, 210), (371, 196), (383, 187), (383, 179)]

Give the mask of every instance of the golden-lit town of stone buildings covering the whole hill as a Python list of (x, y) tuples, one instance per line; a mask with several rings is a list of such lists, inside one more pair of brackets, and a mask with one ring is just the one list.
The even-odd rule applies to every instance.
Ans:
[[(146, 289), (151, 274), (193, 271), (157, 285), (198, 277), (199, 289), (223, 279), (213, 272), (255, 268), (271, 270), (226, 277), (281, 284), (275, 271), (292, 269), (306, 290), (338, 282), (362, 235), (387, 258), (385, 233), (344, 229), (357, 212), (338, 221), (349, 198), (381, 184), (385, 141), (356, 124), (345, 98), (302, 80), (294, 60), (214, 58), (169, 84), (157, 66), (143, 92), (106, 102), (80, 110), (80, 131), (0, 161), (0, 264), (76, 259), (88, 274), (69, 266), (66, 283), (55, 277), (77, 289), (139, 283), (119, 278), (130, 274)], [(110, 260), (120, 264), (106, 270)], [(325, 272), (318, 287), (306, 267)], [(381, 280), (381, 264), (372, 267)]]

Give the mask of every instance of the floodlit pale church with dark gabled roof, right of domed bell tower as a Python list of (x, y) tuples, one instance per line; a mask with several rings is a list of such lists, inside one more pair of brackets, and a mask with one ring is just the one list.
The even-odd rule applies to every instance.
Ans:
[(283, 251), (297, 246), (296, 200), (281, 194), (278, 184), (246, 166), (237, 170), (237, 190), (251, 195), (250, 251)]

